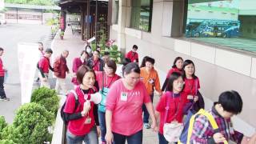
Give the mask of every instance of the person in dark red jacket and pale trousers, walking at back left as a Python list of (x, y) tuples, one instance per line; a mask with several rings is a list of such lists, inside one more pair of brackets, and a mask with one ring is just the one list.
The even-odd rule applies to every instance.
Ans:
[(68, 50), (64, 50), (62, 54), (54, 61), (54, 75), (57, 77), (55, 90), (58, 92), (59, 88), (66, 94), (66, 73), (69, 74), (69, 68), (66, 65), (66, 58), (69, 55)]

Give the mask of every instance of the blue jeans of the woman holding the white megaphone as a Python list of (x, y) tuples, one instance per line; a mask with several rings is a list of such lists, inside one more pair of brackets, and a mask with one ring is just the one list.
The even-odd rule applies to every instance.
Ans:
[(71, 134), (69, 130), (66, 132), (66, 142), (67, 144), (82, 144), (82, 141), (86, 144), (98, 143), (98, 134), (96, 126), (94, 126), (88, 134), (78, 136)]

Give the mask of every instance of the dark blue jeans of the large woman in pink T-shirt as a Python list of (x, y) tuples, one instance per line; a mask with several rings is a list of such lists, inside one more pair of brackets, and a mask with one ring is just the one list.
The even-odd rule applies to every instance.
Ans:
[(142, 144), (142, 130), (139, 130), (137, 133), (126, 136), (122, 134), (113, 133), (114, 135), (114, 144), (125, 144), (126, 139), (128, 144)]

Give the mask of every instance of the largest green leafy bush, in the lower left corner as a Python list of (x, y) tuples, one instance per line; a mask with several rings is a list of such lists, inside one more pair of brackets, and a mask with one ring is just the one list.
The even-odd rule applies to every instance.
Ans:
[(13, 125), (6, 126), (2, 137), (17, 144), (38, 144), (50, 141), (48, 128), (52, 125), (54, 115), (38, 103), (22, 105), (14, 118)]

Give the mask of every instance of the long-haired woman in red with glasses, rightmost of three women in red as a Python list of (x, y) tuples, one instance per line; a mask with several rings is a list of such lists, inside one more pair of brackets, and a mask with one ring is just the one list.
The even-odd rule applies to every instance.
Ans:
[(187, 114), (194, 103), (198, 102), (198, 89), (200, 89), (199, 78), (194, 74), (194, 62), (187, 59), (183, 63), (183, 79), (185, 82), (184, 93), (186, 94), (183, 113)]

